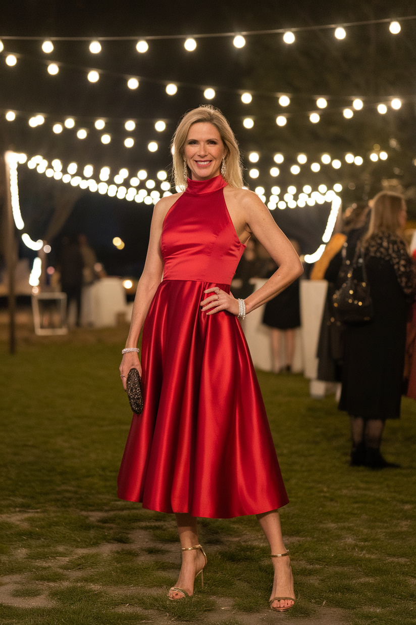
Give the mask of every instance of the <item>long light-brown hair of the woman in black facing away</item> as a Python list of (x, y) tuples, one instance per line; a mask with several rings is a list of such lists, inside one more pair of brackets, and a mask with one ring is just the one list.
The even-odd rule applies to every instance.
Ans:
[(370, 224), (364, 240), (377, 232), (390, 232), (402, 236), (400, 212), (406, 207), (404, 197), (392, 191), (380, 191), (374, 197), (371, 207)]

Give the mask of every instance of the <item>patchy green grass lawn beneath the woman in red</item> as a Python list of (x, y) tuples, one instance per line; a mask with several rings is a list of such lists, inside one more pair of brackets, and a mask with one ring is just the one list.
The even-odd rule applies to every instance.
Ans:
[(255, 517), (201, 519), (208, 555), (188, 601), (168, 601), (180, 550), (173, 515), (119, 501), (130, 425), (120, 331), (0, 344), (2, 625), (410, 625), (415, 603), (416, 402), (387, 422), (401, 469), (347, 466), (349, 427), (333, 396), (300, 375), (259, 372), (291, 503), (281, 511), (296, 606), (268, 609), (273, 578)]

